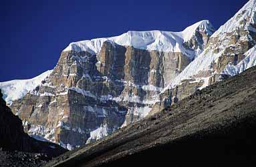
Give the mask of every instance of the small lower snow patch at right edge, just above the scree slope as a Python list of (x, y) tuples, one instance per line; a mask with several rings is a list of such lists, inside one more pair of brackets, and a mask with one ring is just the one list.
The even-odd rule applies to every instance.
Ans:
[(243, 59), (237, 65), (227, 65), (227, 67), (221, 73), (234, 76), (239, 73), (242, 73), (246, 69), (249, 69), (250, 67), (253, 67), (255, 65), (256, 65), (256, 45), (245, 53), (245, 59)]

